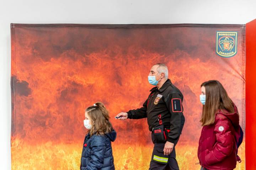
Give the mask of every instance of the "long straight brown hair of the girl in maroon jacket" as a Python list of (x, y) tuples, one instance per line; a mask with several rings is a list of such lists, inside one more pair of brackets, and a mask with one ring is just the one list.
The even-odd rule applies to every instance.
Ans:
[(202, 86), (206, 88), (206, 102), (203, 105), (203, 113), (200, 120), (202, 126), (214, 124), (216, 113), (219, 109), (225, 109), (229, 113), (235, 112), (233, 101), (219, 81), (206, 81)]

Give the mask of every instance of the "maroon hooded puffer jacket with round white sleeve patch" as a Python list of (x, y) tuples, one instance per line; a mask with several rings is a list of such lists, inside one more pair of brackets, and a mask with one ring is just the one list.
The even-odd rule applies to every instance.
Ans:
[(212, 125), (203, 126), (198, 146), (200, 165), (208, 170), (233, 170), (236, 167), (236, 142), (238, 141), (239, 115), (218, 111)]

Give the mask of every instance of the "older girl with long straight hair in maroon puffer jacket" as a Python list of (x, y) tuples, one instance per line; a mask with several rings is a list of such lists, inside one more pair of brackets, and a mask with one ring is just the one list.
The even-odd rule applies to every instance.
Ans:
[(201, 92), (203, 128), (198, 146), (201, 170), (233, 170), (240, 135), (238, 110), (217, 80), (203, 83)]

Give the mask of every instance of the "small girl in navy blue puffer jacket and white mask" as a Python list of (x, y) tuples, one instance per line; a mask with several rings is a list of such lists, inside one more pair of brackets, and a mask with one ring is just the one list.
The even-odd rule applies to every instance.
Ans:
[(89, 129), (82, 149), (80, 170), (114, 170), (111, 142), (116, 131), (109, 121), (108, 111), (101, 102), (85, 111), (84, 126)]

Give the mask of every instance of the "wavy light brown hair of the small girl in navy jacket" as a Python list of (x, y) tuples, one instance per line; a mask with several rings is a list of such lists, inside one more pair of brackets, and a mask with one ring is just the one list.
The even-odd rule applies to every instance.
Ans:
[(90, 135), (104, 135), (113, 130), (110, 123), (110, 116), (103, 103), (97, 102), (94, 106), (90, 106), (85, 110), (88, 116), (91, 118), (92, 128), (90, 129)]

